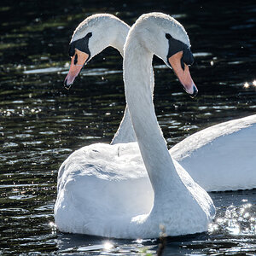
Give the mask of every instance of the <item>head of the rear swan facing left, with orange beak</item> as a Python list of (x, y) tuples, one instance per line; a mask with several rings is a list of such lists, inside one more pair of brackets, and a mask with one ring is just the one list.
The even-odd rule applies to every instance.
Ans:
[(123, 49), (130, 27), (114, 15), (98, 14), (86, 18), (73, 32), (69, 55), (71, 65), (64, 85), (73, 84), (82, 67), (108, 46)]

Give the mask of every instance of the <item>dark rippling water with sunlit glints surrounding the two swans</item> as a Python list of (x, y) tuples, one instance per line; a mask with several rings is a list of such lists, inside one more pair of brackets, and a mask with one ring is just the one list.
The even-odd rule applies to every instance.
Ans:
[[(191, 74), (199, 96), (191, 100), (162, 61), (154, 60), (155, 108), (171, 147), (202, 128), (255, 113), (256, 4), (193, 0), (0, 4), (0, 253), (156, 253), (155, 240), (108, 240), (55, 230), (58, 167), (74, 149), (109, 143), (125, 108), (122, 59), (114, 49), (90, 61), (72, 90), (63, 88), (73, 29), (88, 15), (102, 12), (131, 25), (143, 13), (162, 11), (183, 24), (195, 53)], [(165, 255), (256, 254), (256, 190), (211, 196), (217, 216), (209, 231), (168, 238)]]

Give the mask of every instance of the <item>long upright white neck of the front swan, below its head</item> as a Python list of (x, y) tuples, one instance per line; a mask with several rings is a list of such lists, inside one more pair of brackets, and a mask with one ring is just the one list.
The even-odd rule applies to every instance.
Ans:
[(177, 171), (154, 113), (150, 88), (153, 53), (145, 49), (137, 38), (130, 38), (125, 47), (125, 96), (156, 198), (177, 181)]

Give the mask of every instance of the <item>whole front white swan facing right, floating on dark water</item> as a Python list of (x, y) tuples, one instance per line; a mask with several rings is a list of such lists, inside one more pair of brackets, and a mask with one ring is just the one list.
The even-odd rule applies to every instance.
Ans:
[[(178, 52), (172, 51), (172, 39), (181, 47)], [(150, 88), (153, 54), (172, 65), (191, 95), (196, 92), (189, 67), (185, 64), (182, 69), (182, 58), (189, 63), (190, 55), (183, 26), (168, 15), (141, 16), (125, 44), (125, 96), (153, 197), (144, 190), (149, 180), (141, 175), (137, 143), (80, 148), (59, 171), (55, 203), (59, 230), (117, 238), (157, 237), (160, 224), (168, 236), (207, 230), (215, 214), (212, 200), (173, 162), (157, 123)]]

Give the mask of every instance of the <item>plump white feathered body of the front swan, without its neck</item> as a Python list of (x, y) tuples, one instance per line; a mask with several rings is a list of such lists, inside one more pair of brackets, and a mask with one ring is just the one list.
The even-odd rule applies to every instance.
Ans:
[[(182, 166), (174, 163), (183, 180), (194, 183), (189, 175), (186, 176)], [(119, 238), (159, 236), (161, 222), (150, 224), (152, 232), (143, 231), (142, 234), (136, 228), (135, 220), (147, 216), (154, 205), (154, 192), (145, 173), (137, 143), (97, 143), (75, 151), (63, 162), (59, 171), (58, 197), (55, 203), (55, 224), (58, 229), (70, 233)], [(197, 189), (197, 194), (203, 193), (199, 186)], [(167, 204), (169, 200), (172, 198), (166, 197), (162, 204)], [(176, 196), (173, 203), (173, 208), (183, 208), (184, 202), (177, 200)], [(212, 202), (209, 200), (210, 203)], [(161, 208), (159, 211), (162, 211)], [(191, 229), (189, 233), (207, 229), (208, 219), (201, 216), (200, 211), (199, 213), (197, 215), (190, 212), (190, 209), (183, 212), (183, 218), (187, 219), (189, 227), (191, 228), (192, 223), (195, 224), (195, 230)], [(196, 219), (190, 218), (190, 214), (195, 215)], [(168, 235), (188, 233), (183, 230), (183, 225), (186, 227), (188, 223), (177, 221), (180, 212), (167, 212), (167, 215), (177, 225)], [(203, 227), (196, 226), (197, 218), (204, 220)]]

